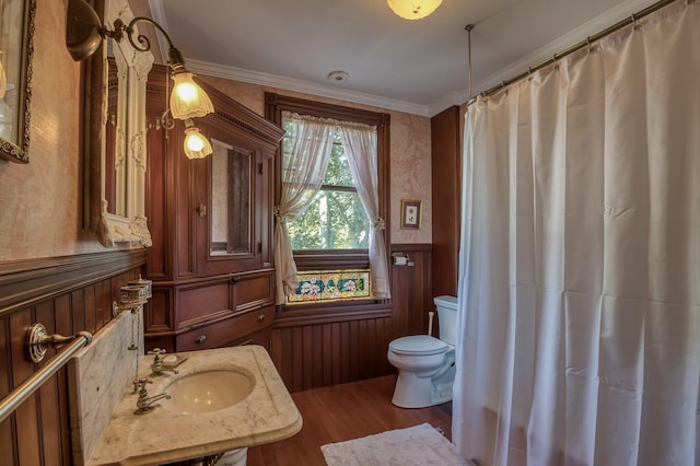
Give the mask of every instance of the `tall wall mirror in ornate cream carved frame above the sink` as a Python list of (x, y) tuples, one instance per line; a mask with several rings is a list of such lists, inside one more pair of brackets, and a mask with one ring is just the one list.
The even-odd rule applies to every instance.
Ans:
[[(133, 13), (128, 0), (95, 0), (104, 24)], [(138, 34), (138, 31), (137, 31)], [(85, 226), (100, 243), (151, 245), (145, 221), (145, 82), (150, 51), (129, 43), (103, 40), (85, 62)]]

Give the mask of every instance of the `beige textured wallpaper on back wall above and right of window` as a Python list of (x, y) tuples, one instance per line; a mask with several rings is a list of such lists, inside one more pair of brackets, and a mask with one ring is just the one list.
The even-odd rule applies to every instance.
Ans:
[[(200, 78), (256, 112), (258, 115), (265, 115), (265, 92), (277, 92), (318, 102), (389, 113), (392, 115), (390, 241), (393, 244), (432, 242), (430, 118), (221, 78)], [(420, 230), (400, 229), (401, 199), (422, 201), (422, 222)]]

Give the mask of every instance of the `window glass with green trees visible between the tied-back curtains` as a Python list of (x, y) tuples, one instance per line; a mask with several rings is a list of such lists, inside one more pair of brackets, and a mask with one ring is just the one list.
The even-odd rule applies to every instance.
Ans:
[[(283, 119), (290, 133), (291, 123)], [(282, 140), (282, 171), (291, 151), (290, 138)], [(360, 201), (350, 164), (340, 142), (339, 131), (334, 133), (330, 161), (320, 190), (304, 213), (288, 220), (290, 241), (294, 251), (366, 249), (370, 238), (370, 219)]]

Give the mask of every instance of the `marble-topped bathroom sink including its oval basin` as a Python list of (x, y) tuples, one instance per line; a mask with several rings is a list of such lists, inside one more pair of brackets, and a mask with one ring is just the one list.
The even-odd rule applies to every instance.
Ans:
[(135, 415), (137, 397), (127, 387), (89, 450), (89, 459), (81, 464), (170, 464), (277, 442), (302, 428), (299, 409), (261, 346), (178, 356), (187, 362), (177, 366), (177, 373), (155, 377), (150, 366), (153, 357), (142, 357), (139, 377), (151, 377), (149, 395), (165, 393), (171, 399), (160, 398), (148, 413)]

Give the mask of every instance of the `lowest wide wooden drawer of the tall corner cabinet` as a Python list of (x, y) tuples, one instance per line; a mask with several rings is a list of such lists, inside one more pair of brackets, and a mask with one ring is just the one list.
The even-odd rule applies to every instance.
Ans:
[(269, 327), (273, 317), (275, 306), (268, 306), (185, 331), (176, 338), (177, 351), (230, 346), (248, 334)]

